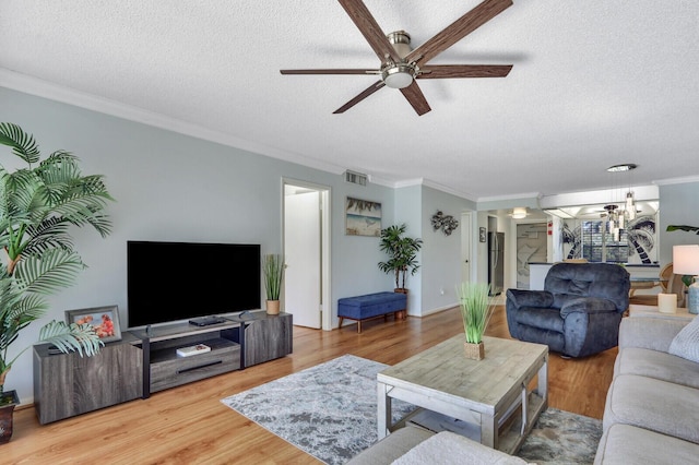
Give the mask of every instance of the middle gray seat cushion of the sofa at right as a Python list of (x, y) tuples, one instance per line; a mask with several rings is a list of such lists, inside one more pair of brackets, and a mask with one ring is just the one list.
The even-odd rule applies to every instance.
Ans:
[(614, 379), (604, 406), (603, 428), (637, 426), (699, 443), (699, 395), (683, 386), (637, 374)]

